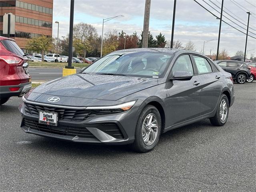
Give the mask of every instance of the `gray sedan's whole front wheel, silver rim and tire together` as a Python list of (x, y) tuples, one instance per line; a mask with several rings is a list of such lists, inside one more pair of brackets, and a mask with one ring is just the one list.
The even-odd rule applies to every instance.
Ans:
[(132, 144), (137, 152), (149, 152), (158, 143), (161, 132), (161, 116), (157, 108), (148, 105), (141, 112)]

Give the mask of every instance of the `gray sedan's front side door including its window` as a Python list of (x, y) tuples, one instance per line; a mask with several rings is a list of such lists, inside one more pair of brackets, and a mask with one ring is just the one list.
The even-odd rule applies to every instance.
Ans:
[[(194, 68), (189, 55), (181, 55), (172, 67), (171, 76), (175, 72), (187, 72), (194, 75)], [(200, 85), (198, 76), (190, 80), (171, 80), (166, 84), (168, 89), (168, 108), (170, 113), (170, 126), (190, 120), (199, 116), (200, 110)]]

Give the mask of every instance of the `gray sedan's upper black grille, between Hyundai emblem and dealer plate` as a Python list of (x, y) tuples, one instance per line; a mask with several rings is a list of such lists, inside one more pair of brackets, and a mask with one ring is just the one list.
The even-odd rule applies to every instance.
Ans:
[(97, 113), (94, 113), (90, 110), (84, 109), (66, 109), (66, 108), (57, 108), (50, 106), (42, 106), (25, 103), (25, 112), (33, 116), (39, 116), (38, 111), (45, 112), (56, 112), (59, 114), (59, 120), (70, 120), (70, 121), (83, 121), (92, 116), (96, 116)]

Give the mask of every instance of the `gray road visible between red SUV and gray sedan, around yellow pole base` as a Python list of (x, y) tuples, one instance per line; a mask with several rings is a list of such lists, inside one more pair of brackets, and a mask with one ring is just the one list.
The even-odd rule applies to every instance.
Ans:
[[(36, 81), (49, 81), (59, 77), (62, 77), (62, 68), (33, 68), (29, 67), (29, 73), (32, 82)], [(80, 72), (80, 69), (76, 69), (76, 72)]]

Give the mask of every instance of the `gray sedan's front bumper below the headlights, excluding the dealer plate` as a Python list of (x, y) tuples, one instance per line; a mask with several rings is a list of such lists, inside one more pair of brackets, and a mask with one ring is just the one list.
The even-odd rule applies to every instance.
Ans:
[(59, 119), (58, 126), (39, 124), (38, 116), (26, 113), (24, 103), (19, 110), (22, 114), (21, 128), (26, 133), (92, 144), (123, 145), (134, 142), (137, 103), (126, 112), (96, 115), (79, 122)]

